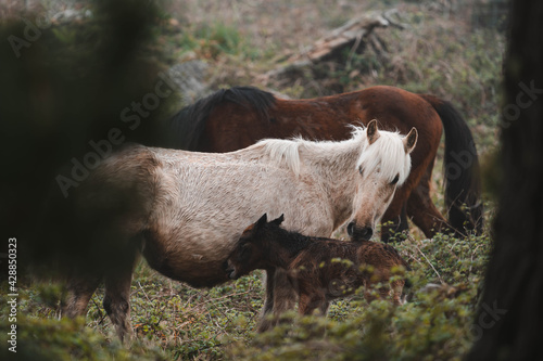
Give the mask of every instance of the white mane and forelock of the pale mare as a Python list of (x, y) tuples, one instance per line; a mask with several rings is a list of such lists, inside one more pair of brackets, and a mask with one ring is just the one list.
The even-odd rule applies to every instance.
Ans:
[(301, 160), (300, 149), (307, 147), (323, 151), (329, 154), (332, 149), (359, 145), (361, 155), (356, 167), (362, 166), (364, 171), (381, 172), (381, 177), (392, 181), (396, 175), (400, 176), (399, 184), (402, 184), (411, 170), (411, 158), (406, 156), (402, 136), (399, 132), (380, 130), (379, 138), (368, 146), (364, 127), (352, 127), (352, 137), (341, 142), (333, 141), (310, 141), (301, 137), (290, 140), (265, 139), (257, 144), (264, 147), (265, 153), (275, 162), (285, 164), (295, 175), (300, 175)]

